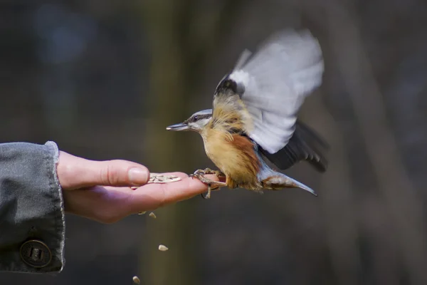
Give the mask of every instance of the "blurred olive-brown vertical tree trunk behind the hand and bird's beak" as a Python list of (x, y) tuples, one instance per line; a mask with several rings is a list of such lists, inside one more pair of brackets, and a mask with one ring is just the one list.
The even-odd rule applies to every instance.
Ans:
[[(191, 152), (191, 142), (187, 140), (193, 138), (168, 133), (164, 128), (174, 123), (176, 118), (182, 120), (189, 115), (188, 102), (201, 76), (200, 67), (212, 51), (211, 48), (215, 47), (199, 46), (203, 41), (191, 33), (192, 28), (200, 24), (198, 21), (203, 21), (203, 18), (197, 17), (194, 0), (147, 0), (141, 1), (138, 9), (145, 21), (152, 54), (151, 95), (148, 100), (150, 114), (147, 116), (150, 119), (144, 151), (149, 163), (147, 166), (152, 171), (189, 172), (186, 167), (188, 161), (192, 160), (187, 155)], [(224, 36), (220, 33), (223, 17), (221, 15), (218, 21), (213, 22), (216, 33), (212, 35), (207, 32), (207, 38), (221, 40)], [(217, 23), (221, 28), (215, 28)], [(142, 262), (144, 283), (196, 284), (196, 264), (191, 254), (195, 244), (194, 234), (191, 234), (194, 224), (193, 203), (185, 202), (185, 207), (179, 203), (157, 212), (159, 218), (147, 224), (150, 240), (144, 241), (148, 247)], [(157, 246), (161, 242), (170, 246), (167, 254), (158, 252)]]

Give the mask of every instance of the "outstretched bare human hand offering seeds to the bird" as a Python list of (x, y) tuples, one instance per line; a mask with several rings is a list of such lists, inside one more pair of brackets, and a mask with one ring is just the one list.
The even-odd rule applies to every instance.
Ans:
[[(207, 186), (182, 172), (180, 181), (146, 184), (149, 170), (126, 160), (93, 161), (60, 151), (56, 167), (65, 212), (112, 223), (130, 214), (157, 209), (207, 191)], [(214, 175), (206, 175), (218, 180)], [(133, 186), (141, 186), (132, 190)]]

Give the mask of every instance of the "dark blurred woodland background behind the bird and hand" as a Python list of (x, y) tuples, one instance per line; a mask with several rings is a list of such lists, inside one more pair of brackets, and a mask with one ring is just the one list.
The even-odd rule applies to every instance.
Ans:
[[(0, 141), (44, 143), (153, 172), (214, 167), (196, 133), (243, 48), (310, 28), (322, 87), (300, 118), (331, 145), (301, 190), (214, 192), (104, 225), (66, 217), (58, 276), (0, 284), (427, 284), (427, 2), (0, 2)], [(159, 252), (159, 244), (169, 247)]]

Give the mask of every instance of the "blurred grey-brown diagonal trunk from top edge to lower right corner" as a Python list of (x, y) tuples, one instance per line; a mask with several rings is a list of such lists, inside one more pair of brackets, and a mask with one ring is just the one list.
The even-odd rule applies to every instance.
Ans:
[[(349, 11), (356, 11), (348, 2), (330, 1), (330, 40), (337, 62), (347, 84), (359, 125), (374, 165), (379, 190), (386, 199), (395, 232), (401, 244), (401, 255), (411, 284), (427, 284), (426, 228), (423, 224), (423, 204), (416, 197), (399, 157), (398, 148), (386, 122), (381, 92), (374, 81), (369, 61)], [(351, 54), (349, 54), (351, 53)], [(369, 106), (369, 107), (367, 107)]]

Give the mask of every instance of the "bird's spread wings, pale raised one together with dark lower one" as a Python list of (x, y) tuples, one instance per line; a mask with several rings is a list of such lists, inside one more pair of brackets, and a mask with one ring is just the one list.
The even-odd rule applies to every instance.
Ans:
[[(310, 31), (287, 29), (270, 36), (255, 54), (244, 51), (216, 88), (214, 118), (233, 110), (243, 131), (281, 169), (309, 160), (318, 170), (326, 161), (312, 142), (315, 134), (297, 125), (307, 95), (322, 83), (320, 44)], [(228, 108), (227, 108), (228, 107)]]

